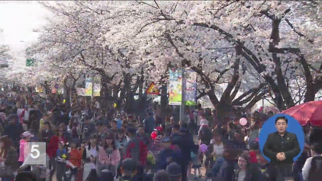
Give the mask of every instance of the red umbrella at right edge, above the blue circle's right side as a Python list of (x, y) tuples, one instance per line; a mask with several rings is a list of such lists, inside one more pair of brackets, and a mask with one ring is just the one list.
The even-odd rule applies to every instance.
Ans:
[(281, 113), (294, 117), (301, 125), (306, 125), (310, 121), (314, 126), (322, 126), (322, 100), (305, 102)]

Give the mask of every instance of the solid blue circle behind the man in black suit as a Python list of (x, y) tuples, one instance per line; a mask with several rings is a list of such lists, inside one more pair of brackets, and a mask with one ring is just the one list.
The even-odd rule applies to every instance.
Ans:
[[(276, 132), (275, 128), (275, 119), (279, 116), (285, 116), (288, 119), (288, 124), (287, 124), (287, 129), (286, 131), (290, 133), (296, 134), (296, 137), (298, 138), (298, 144), (300, 146), (300, 153), (293, 158), (293, 161), (296, 161), (298, 157), (301, 155), (304, 147), (304, 132), (302, 129), (302, 126), (298, 123), (298, 121), (293, 118), (292, 116), (286, 115), (286, 114), (277, 114), (275, 116), (270, 117), (265, 121), (263, 124), (262, 129), (260, 130), (260, 135), (259, 135), (259, 144), (260, 144), (260, 152), (263, 154), (263, 147), (265, 145), (266, 139), (270, 133)], [(264, 155), (264, 154), (263, 154)], [(268, 157), (264, 155), (264, 157), (270, 161)]]

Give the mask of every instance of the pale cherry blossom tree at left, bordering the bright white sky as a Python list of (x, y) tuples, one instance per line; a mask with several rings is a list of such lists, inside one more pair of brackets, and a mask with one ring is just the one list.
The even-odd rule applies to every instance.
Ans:
[[(31, 49), (43, 65), (63, 70), (89, 70), (101, 77), (101, 96), (105, 100), (133, 100), (133, 93), (142, 85), (143, 63), (136, 52), (124, 47), (113, 47), (104, 35), (122, 14), (114, 14), (121, 2), (68, 1), (42, 2), (56, 16), (39, 43)], [(118, 11), (117, 11), (118, 12)], [(114, 16), (119, 19), (115, 20)], [(69, 71), (67, 71), (69, 72)], [(133, 86), (131, 86), (135, 82)], [(113, 92), (113, 93), (112, 93)], [(111, 97), (113, 95), (113, 97)], [(111, 104), (112, 105), (112, 104)], [(132, 104), (129, 104), (132, 105)]]

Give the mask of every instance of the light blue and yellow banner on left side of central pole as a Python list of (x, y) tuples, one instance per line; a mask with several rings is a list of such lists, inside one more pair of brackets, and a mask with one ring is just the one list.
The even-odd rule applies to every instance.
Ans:
[(170, 70), (169, 77), (169, 105), (180, 105), (182, 93), (181, 70)]

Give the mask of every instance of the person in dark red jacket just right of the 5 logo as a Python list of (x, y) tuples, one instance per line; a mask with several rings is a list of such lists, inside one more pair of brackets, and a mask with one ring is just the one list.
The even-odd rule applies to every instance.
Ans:
[(66, 139), (63, 136), (64, 130), (63, 129), (56, 129), (56, 135), (52, 136), (49, 141), (49, 146), (47, 148), (47, 154), (49, 156), (49, 164), (51, 165), (51, 171), (50, 171), (50, 181), (52, 180), (52, 176), (54, 175), (56, 171), (56, 153), (58, 149), (58, 143), (63, 141), (66, 144)]

